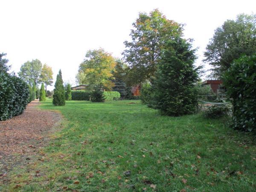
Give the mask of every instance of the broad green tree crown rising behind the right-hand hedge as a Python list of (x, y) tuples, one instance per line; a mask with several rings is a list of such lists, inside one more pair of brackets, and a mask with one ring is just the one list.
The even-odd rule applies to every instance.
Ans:
[(234, 59), (242, 54), (256, 52), (256, 15), (238, 15), (215, 30), (204, 52), (205, 60), (212, 65), (212, 76), (219, 78)]

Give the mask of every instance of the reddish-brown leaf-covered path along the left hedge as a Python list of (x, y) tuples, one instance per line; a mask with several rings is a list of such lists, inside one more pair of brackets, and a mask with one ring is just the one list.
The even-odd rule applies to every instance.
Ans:
[(24, 113), (0, 121), (0, 177), (8, 175), (13, 167), (29, 163), (38, 149), (47, 143), (47, 133), (61, 119), (59, 113), (36, 108), (32, 101)]

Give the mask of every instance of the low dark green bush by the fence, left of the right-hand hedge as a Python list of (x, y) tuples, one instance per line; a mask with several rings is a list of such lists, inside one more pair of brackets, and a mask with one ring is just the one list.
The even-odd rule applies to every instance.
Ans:
[(212, 105), (205, 111), (204, 116), (210, 119), (218, 119), (227, 116), (230, 113), (230, 108), (227, 105)]

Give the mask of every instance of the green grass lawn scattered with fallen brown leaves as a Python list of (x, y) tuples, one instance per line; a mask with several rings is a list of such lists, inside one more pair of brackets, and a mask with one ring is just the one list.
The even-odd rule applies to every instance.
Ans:
[(40, 108), (60, 111), (62, 128), (41, 151), (41, 159), (15, 169), (12, 183), (0, 191), (256, 189), (252, 137), (221, 120), (201, 114), (160, 116), (140, 101), (70, 101), (54, 107), (47, 100)]

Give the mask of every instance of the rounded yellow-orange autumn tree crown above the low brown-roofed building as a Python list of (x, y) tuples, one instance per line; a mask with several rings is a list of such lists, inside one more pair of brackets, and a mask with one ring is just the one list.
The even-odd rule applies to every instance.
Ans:
[(89, 50), (84, 62), (79, 65), (76, 79), (79, 84), (87, 84), (91, 90), (111, 90), (114, 85), (111, 80), (115, 66), (115, 59), (104, 49)]

